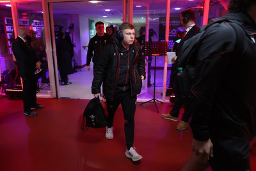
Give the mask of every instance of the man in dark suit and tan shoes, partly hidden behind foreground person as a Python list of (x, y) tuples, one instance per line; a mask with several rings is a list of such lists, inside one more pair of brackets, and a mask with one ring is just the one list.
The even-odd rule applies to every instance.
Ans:
[[(181, 12), (180, 24), (181, 26), (184, 26), (186, 29), (177, 47), (177, 50), (176, 50), (177, 56), (179, 56), (180, 50), (184, 42), (189, 38), (195, 36), (195, 34), (199, 33), (200, 31), (200, 28), (195, 25), (195, 11), (192, 9), (187, 9)], [(173, 57), (173, 62), (176, 61), (177, 56)], [(170, 79), (172, 79), (173, 81), (175, 80), (175, 77), (177, 75), (176, 65), (177, 63), (174, 63), (172, 65), (172, 73), (171, 73)], [(178, 121), (180, 108), (182, 107), (182, 104), (184, 104), (184, 114), (182, 115), (182, 119), (180, 123), (177, 125), (176, 129), (185, 130), (189, 126), (189, 119), (191, 117), (191, 111), (189, 108), (189, 99), (182, 98), (179, 95), (179, 92), (177, 92), (177, 90), (175, 89), (173, 89), (173, 92), (175, 93), (175, 96), (176, 96), (173, 108), (169, 114), (162, 114), (161, 117), (171, 121)]]

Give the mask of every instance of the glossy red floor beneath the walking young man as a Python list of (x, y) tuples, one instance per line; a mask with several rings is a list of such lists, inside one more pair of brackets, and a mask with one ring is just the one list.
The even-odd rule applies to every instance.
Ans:
[[(124, 119), (118, 108), (114, 138), (105, 129), (80, 130), (88, 100), (44, 99), (36, 117), (22, 114), (21, 100), (0, 98), (0, 170), (93, 171), (180, 170), (191, 154), (191, 129), (175, 130), (177, 123), (160, 117), (170, 103), (139, 105), (134, 147), (143, 156), (139, 163), (125, 157)], [(256, 170), (256, 147), (251, 153)], [(211, 169), (209, 169), (211, 170)]]

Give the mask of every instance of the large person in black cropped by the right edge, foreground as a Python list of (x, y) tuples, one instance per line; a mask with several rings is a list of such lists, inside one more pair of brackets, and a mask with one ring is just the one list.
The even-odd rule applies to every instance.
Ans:
[(198, 47), (191, 85), (191, 164), (209, 163), (214, 171), (253, 170), (256, 1), (231, 0), (228, 10), (228, 22), (207, 28)]

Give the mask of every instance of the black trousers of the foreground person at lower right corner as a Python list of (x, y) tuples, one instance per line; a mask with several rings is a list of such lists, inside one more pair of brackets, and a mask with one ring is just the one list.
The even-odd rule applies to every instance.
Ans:
[(210, 158), (209, 163), (212, 170), (249, 171), (249, 140), (233, 137), (232, 135), (223, 135), (223, 133), (215, 131), (216, 129), (211, 129), (210, 131), (213, 144), (213, 158)]

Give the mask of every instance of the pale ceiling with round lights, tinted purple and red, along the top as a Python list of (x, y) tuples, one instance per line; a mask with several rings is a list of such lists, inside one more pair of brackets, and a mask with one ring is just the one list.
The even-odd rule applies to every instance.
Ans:
[[(71, 15), (71, 14), (81, 14), (86, 15), (90, 19), (102, 20), (103, 22), (111, 22), (113, 24), (122, 23), (123, 19), (123, 0), (110, 0), (110, 1), (99, 1), (97, 4), (86, 3), (85, 1), (74, 1), (72, 2), (61, 2), (52, 3), (54, 15)], [(185, 10), (188, 7), (195, 8), (198, 11), (198, 6), (204, 5), (202, 3), (204, 0), (171, 0), (170, 11), (171, 15), (173, 13), (180, 13), (180, 11)], [(218, 5), (222, 7), (219, 1), (229, 1), (229, 0), (211, 0), (211, 6)], [(0, 0), (1, 2), (1, 0)], [(4, 3), (0, 3), (0, 9), (5, 8)], [(142, 4), (141, 8), (136, 8), (136, 4)], [(163, 17), (166, 15), (166, 0), (140, 0), (134, 1), (134, 23), (141, 22), (145, 23), (146, 8), (143, 4), (147, 4), (149, 7), (150, 20), (154, 20), (158, 17)], [(180, 10), (175, 10), (174, 8), (181, 8)], [(19, 10), (24, 10), (29, 12), (31, 15), (40, 13), (42, 11), (42, 4), (40, 1), (37, 2), (19, 2), (17, 4)], [(104, 11), (110, 9), (111, 11)], [(202, 11), (202, 9), (200, 9)], [(42, 15), (42, 14), (41, 14)], [(106, 18), (103, 16), (106, 15)], [(144, 17), (144, 19), (141, 19)]]

